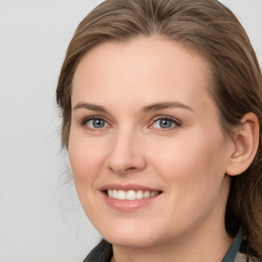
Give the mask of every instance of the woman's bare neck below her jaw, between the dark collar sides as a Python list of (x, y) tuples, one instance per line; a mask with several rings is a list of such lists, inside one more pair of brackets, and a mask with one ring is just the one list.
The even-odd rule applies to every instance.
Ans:
[(115, 262), (221, 262), (232, 238), (224, 225), (198, 228), (178, 239), (150, 247), (121, 247), (113, 245)]

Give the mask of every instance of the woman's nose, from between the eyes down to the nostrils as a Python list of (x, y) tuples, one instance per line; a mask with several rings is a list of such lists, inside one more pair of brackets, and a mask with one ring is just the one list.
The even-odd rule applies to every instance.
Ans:
[(142, 138), (129, 130), (118, 130), (111, 143), (106, 165), (115, 173), (141, 171), (146, 167)]

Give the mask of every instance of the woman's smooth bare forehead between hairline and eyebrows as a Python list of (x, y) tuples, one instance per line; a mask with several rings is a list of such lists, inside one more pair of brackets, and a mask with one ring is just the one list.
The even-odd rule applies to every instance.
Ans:
[(202, 103), (210, 79), (207, 60), (180, 43), (154, 37), (105, 42), (79, 62), (72, 104), (83, 97), (108, 104), (123, 101), (123, 106), (134, 100), (137, 104), (168, 99)]

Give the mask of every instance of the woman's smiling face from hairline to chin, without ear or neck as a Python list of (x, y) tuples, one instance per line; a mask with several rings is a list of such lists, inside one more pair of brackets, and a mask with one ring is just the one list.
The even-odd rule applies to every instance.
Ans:
[(69, 158), (108, 242), (149, 247), (224, 227), (234, 148), (209, 78), (202, 56), (153, 37), (103, 43), (78, 64)]

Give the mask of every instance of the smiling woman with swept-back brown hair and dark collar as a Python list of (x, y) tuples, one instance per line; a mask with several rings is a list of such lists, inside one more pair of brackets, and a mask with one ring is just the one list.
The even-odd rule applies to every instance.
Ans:
[(105, 1), (70, 42), (57, 103), (105, 239), (84, 261), (262, 259), (262, 77), (224, 5)]

